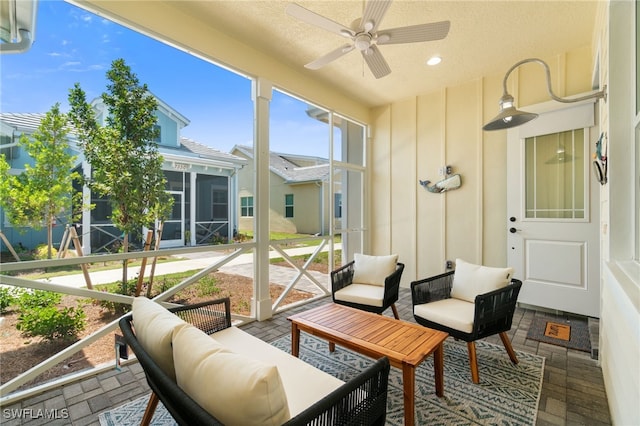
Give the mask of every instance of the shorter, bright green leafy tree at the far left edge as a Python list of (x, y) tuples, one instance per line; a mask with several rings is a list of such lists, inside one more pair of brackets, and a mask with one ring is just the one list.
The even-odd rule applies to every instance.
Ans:
[(73, 191), (74, 180), (81, 176), (71, 171), (76, 156), (69, 150), (68, 132), (67, 116), (56, 103), (33, 135), (20, 137), (19, 145), (33, 159), (33, 165), (26, 164), (22, 173), (12, 175), (4, 156), (0, 158), (0, 205), (13, 226), (47, 228), (48, 259), (56, 220), (75, 220), (73, 206), (80, 205), (82, 197)]

